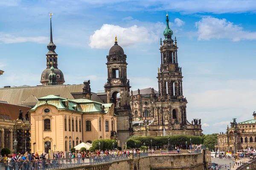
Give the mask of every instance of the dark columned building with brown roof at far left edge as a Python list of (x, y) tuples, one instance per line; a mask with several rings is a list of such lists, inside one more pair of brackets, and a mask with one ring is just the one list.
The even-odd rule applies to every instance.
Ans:
[[(23, 118), (19, 120), (19, 112), (23, 111)], [(31, 151), (30, 121), (25, 120), (25, 113), (30, 107), (12, 105), (0, 101), (0, 150), (7, 147), (15, 153), (14, 141), (17, 141), (16, 152)]]

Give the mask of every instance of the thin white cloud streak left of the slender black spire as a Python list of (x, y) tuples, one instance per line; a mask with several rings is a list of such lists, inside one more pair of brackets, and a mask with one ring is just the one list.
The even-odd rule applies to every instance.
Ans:
[(36, 43), (47, 43), (49, 41), (49, 37), (16, 37), (11, 34), (3, 34), (0, 33), (0, 42), (6, 43), (6, 44), (12, 44), (12, 43), (22, 43), (22, 42), (36, 42)]

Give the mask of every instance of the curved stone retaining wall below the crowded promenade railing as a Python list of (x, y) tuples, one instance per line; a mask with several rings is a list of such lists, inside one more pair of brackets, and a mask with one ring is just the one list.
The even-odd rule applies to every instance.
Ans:
[(67, 170), (208, 170), (204, 150), (197, 154), (152, 155), (106, 164), (66, 168)]

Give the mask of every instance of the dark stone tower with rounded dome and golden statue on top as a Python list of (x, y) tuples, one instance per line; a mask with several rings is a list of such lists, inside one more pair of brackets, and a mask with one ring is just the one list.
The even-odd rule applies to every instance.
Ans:
[(132, 115), (130, 107), (130, 83), (127, 79), (126, 55), (122, 47), (115, 44), (107, 56), (108, 82), (105, 83), (107, 102), (114, 103), (117, 116), (117, 136), (123, 145), (132, 135)]

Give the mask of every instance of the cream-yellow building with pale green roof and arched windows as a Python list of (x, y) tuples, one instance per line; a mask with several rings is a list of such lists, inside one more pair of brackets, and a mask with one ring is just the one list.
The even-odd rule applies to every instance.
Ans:
[(35, 152), (38, 153), (68, 151), (70, 143), (75, 147), (81, 142), (117, 137), (112, 103), (49, 95), (39, 98), (30, 113), (31, 143), (36, 143)]

